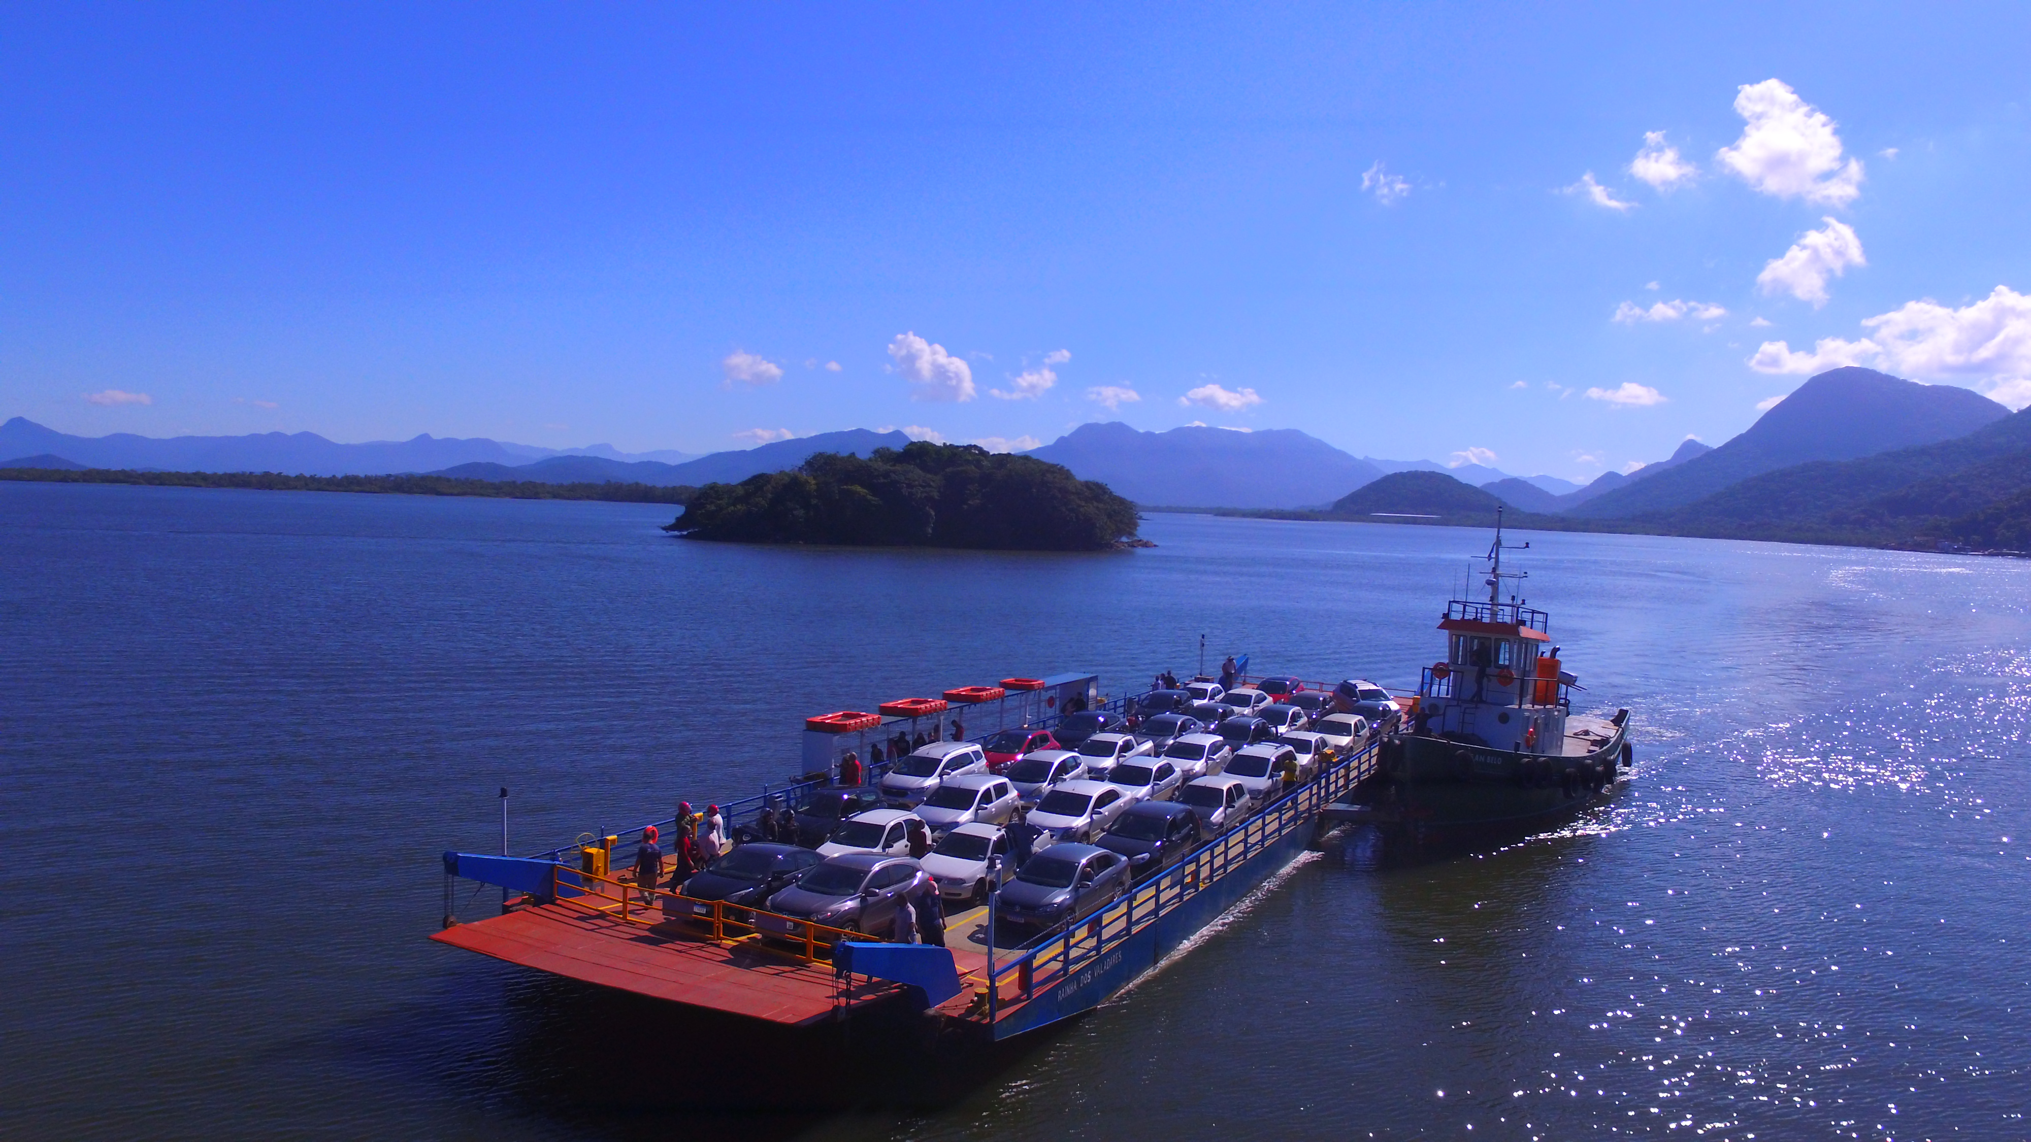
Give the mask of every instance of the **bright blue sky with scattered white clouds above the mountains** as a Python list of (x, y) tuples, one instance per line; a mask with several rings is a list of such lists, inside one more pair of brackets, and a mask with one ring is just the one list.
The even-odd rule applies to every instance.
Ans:
[(2027, 43), (1986, 4), (14, 6), (0, 415), (1202, 421), (1590, 478), (1832, 364), (2019, 406)]

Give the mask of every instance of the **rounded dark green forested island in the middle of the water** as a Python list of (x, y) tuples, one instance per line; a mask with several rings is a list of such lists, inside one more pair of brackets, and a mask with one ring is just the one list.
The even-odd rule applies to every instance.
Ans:
[(1139, 545), (1139, 522), (1135, 504), (1056, 463), (918, 441), (707, 484), (664, 530), (739, 543), (1107, 551)]

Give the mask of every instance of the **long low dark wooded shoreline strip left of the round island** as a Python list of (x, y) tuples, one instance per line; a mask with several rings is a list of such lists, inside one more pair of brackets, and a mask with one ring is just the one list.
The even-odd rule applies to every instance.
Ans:
[(280, 471), (128, 471), (110, 467), (0, 467), (0, 480), (37, 484), (140, 484), (148, 488), (250, 488), (258, 492), (370, 492), (398, 496), (481, 496), (492, 500), (605, 500), (684, 504), (695, 488), (654, 484), (536, 484), (449, 475), (284, 475)]

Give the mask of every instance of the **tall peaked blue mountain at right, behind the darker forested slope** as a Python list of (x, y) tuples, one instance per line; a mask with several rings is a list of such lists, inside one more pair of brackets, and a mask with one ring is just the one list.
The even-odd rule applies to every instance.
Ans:
[(1594, 496), (1570, 514), (1631, 518), (1665, 512), (1765, 471), (1964, 437), (2009, 415), (2003, 404), (1968, 388), (1836, 368), (1801, 384), (1732, 441), (1669, 471)]

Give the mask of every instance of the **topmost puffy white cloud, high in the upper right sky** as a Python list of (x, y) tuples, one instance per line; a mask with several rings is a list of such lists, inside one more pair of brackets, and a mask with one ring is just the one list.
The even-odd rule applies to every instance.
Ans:
[(1734, 112), (1747, 126), (1716, 158), (1757, 193), (1834, 207), (1862, 193), (1862, 161), (1840, 161), (1834, 120), (1783, 81), (1745, 83), (1734, 96)]

